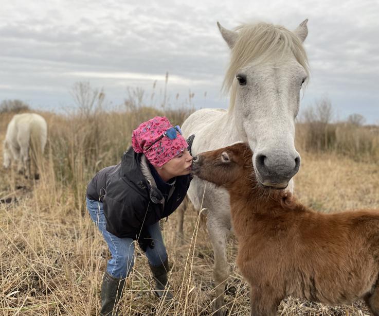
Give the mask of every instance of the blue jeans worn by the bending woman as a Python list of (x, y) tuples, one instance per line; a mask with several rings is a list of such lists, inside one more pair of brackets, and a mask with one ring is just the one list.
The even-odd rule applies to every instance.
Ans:
[[(125, 278), (134, 264), (134, 243), (132, 238), (118, 238), (106, 230), (106, 221), (103, 212), (103, 203), (87, 200), (87, 210), (91, 219), (103, 235), (111, 252), (106, 270), (116, 278)], [(165, 243), (160, 232), (159, 222), (148, 226), (151, 238), (154, 240), (154, 249), (147, 247), (146, 256), (152, 266), (158, 267), (167, 259)]]

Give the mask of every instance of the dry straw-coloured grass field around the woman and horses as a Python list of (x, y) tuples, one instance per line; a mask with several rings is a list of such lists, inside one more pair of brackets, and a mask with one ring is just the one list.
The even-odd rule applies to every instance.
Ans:
[[(98, 315), (102, 273), (109, 257), (105, 242), (86, 214), (87, 182), (104, 166), (118, 163), (132, 130), (154, 115), (151, 108), (104, 113), (81, 109), (75, 115), (41, 113), (49, 126), (41, 179), (26, 180), (4, 170), (0, 157), (0, 315)], [(180, 124), (188, 111), (166, 111)], [(0, 114), (0, 141), (13, 113)], [(300, 144), (301, 145), (301, 144)], [(299, 146), (300, 146), (299, 145)], [(319, 212), (379, 208), (377, 157), (305, 152), (295, 176), (295, 194)], [(2, 151), (2, 149), (0, 149)], [(185, 239), (176, 238), (176, 217), (164, 223), (172, 265), (174, 300), (164, 305), (152, 292), (146, 257), (136, 262), (121, 301), (122, 315), (211, 315), (213, 253), (197, 210), (185, 215)], [(248, 287), (229, 241), (231, 277), (227, 315), (249, 314)], [(338, 282), (338, 280), (336, 280)], [(288, 298), (280, 315), (367, 315), (363, 302), (329, 307)]]

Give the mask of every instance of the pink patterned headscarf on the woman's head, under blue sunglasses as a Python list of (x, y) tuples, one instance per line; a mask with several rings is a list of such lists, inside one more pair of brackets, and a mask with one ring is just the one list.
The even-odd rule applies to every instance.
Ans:
[(159, 136), (171, 127), (173, 127), (172, 124), (165, 116), (156, 116), (143, 122), (132, 134), (134, 151), (143, 152), (152, 165), (163, 166), (188, 147), (186, 139), (179, 133), (175, 139), (164, 136), (150, 147)]

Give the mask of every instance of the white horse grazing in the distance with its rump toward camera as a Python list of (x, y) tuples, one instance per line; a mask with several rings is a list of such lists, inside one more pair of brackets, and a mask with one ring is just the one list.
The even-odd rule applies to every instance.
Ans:
[[(46, 120), (39, 114), (24, 113), (13, 116), (7, 127), (3, 143), (4, 167), (9, 168), (12, 158), (17, 162), (17, 171), (31, 177), (31, 161), (34, 178), (38, 179), (38, 162), (47, 140)], [(31, 159), (30, 159), (31, 156)]]

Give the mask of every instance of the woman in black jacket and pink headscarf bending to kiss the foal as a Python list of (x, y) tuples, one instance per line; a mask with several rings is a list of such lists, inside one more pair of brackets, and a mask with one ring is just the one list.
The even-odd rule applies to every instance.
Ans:
[(101, 315), (111, 315), (120, 300), (134, 263), (134, 240), (148, 257), (156, 295), (172, 298), (159, 220), (174, 212), (186, 195), (193, 137), (187, 143), (178, 126), (154, 117), (133, 131), (132, 146), (121, 163), (100, 170), (89, 182), (87, 209), (112, 255), (101, 286)]

